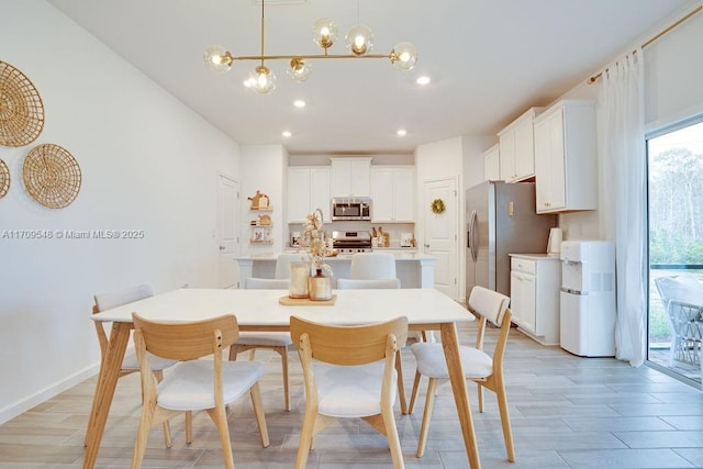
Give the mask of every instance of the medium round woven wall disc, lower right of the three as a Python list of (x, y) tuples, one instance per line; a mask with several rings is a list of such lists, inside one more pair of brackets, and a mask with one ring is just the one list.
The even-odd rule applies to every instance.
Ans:
[(27, 192), (44, 206), (63, 209), (78, 197), (80, 167), (58, 145), (37, 145), (26, 155), (22, 171)]

